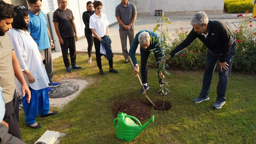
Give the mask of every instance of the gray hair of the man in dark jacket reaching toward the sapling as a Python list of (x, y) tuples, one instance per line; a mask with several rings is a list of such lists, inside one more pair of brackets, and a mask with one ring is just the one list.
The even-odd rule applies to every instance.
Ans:
[(209, 22), (207, 14), (204, 11), (196, 12), (192, 15), (191, 18), (191, 25), (200, 25), (203, 26), (204, 24), (207, 24)]

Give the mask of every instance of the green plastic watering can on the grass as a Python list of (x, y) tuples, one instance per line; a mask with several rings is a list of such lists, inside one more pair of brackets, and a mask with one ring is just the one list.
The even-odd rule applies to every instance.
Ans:
[[(131, 116), (126, 115), (126, 113), (120, 112), (117, 114), (117, 118), (114, 119), (114, 127), (116, 128), (116, 137), (122, 140), (131, 141), (136, 138), (137, 135), (142, 132), (149, 123), (154, 122), (154, 115), (150, 118), (150, 120), (145, 123), (143, 126), (140, 124), (140, 121)], [(137, 125), (133, 120), (137, 121), (139, 125)], [(116, 121), (118, 122), (118, 125), (116, 126)]]

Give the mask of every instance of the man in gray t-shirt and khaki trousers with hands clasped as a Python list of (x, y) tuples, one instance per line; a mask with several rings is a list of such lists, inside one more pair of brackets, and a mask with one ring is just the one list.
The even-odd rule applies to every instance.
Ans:
[(125, 48), (127, 49), (127, 36), (129, 37), (129, 43), (134, 39), (134, 22), (137, 17), (136, 6), (128, 0), (122, 0), (122, 2), (116, 6), (116, 19), (119, 23), (119, 35), (122, 45), (122, 53), (125, 57), (125, 63), (128, 63), (128, 58), (125, 55)]

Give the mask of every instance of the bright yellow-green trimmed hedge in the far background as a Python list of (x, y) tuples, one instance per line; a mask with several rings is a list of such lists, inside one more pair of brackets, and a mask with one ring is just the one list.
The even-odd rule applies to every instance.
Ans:
[(228, 13), (253, 12), (253, 0), (225, 0), (224, 8)]

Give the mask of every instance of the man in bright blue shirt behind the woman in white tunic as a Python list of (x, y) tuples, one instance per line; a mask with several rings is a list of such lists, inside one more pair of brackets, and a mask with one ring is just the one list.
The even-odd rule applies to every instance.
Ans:
[[(28, 0), (29, 10), (29, 32), (35, 42), (38, 44), (38, 49), (41, 55), (46, 59), (45, 69), (49, 78), (49, 87), (56, 87), (59, 83), (53, 82), (53, 67), (52, 67), (52, 51), (54, 48), (53, 40), (47, 28), (47, 20), (44, 12), (41, 11), (42, 0)], [(48, 92), (52, 89), (48, 88)]]

